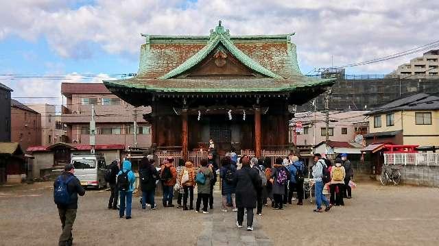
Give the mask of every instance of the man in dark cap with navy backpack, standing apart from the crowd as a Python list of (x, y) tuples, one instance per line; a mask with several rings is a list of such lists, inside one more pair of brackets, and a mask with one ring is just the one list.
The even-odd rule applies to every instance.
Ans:
[(78, 209), (78, 195), (85, 194), (80, 181), (75, 175), (73, 164), (64, 167), (64, 173), (59, 175), (54, 182), (54, 201), (58, 207), (58, 214), (62, 224), (62, 233), (58, 245), (72, 245), (73, 236), (71, 230), (76, 218)]

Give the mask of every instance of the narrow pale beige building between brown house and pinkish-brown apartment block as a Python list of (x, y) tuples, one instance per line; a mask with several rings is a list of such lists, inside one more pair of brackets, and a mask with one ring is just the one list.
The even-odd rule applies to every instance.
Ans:
[(67, 141), (67, 125), (62, 124), (61, 116), (56, 114), (54, 105), (27, 103), (26, 106), (41, 114), (41, 145)]

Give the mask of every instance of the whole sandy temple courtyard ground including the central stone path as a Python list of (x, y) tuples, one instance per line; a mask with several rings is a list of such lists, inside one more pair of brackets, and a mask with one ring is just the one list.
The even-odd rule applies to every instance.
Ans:
[[(264, 208), (254, 232), (237, 230), (236, 213), (160, 208), (133, 219), (106, 210), (107, 192), (87, 190), (73, 230), (74, 245), (437, 245), (438, 188), (360, 183), (345, 207), (314, 214), (313, 205)], [(244, 221), (244, 225), (246, 222)], [(56, 245), (60, 222), (51, 183), (0, 186), (0, 245)], [(293, 241), (294, 240), (294, 241)]]

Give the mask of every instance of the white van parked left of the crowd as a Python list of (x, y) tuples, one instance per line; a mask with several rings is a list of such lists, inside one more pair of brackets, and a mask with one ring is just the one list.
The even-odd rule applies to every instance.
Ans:
[(71, 157), (71, 164), (75, 167), (75, 176), (84, 187), (106, 187), (104, 175), (106, 163), (102, 154), (78, 154)]

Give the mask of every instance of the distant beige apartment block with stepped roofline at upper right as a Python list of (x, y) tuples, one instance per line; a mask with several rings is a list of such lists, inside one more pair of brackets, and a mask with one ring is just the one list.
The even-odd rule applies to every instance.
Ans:
[(439, 49), (434, 49), (423, 54), (423, 56), (410, 60), (409, 63), (398, 66), (392, 74), (418, 77), (435, 77), (439, 75)]

